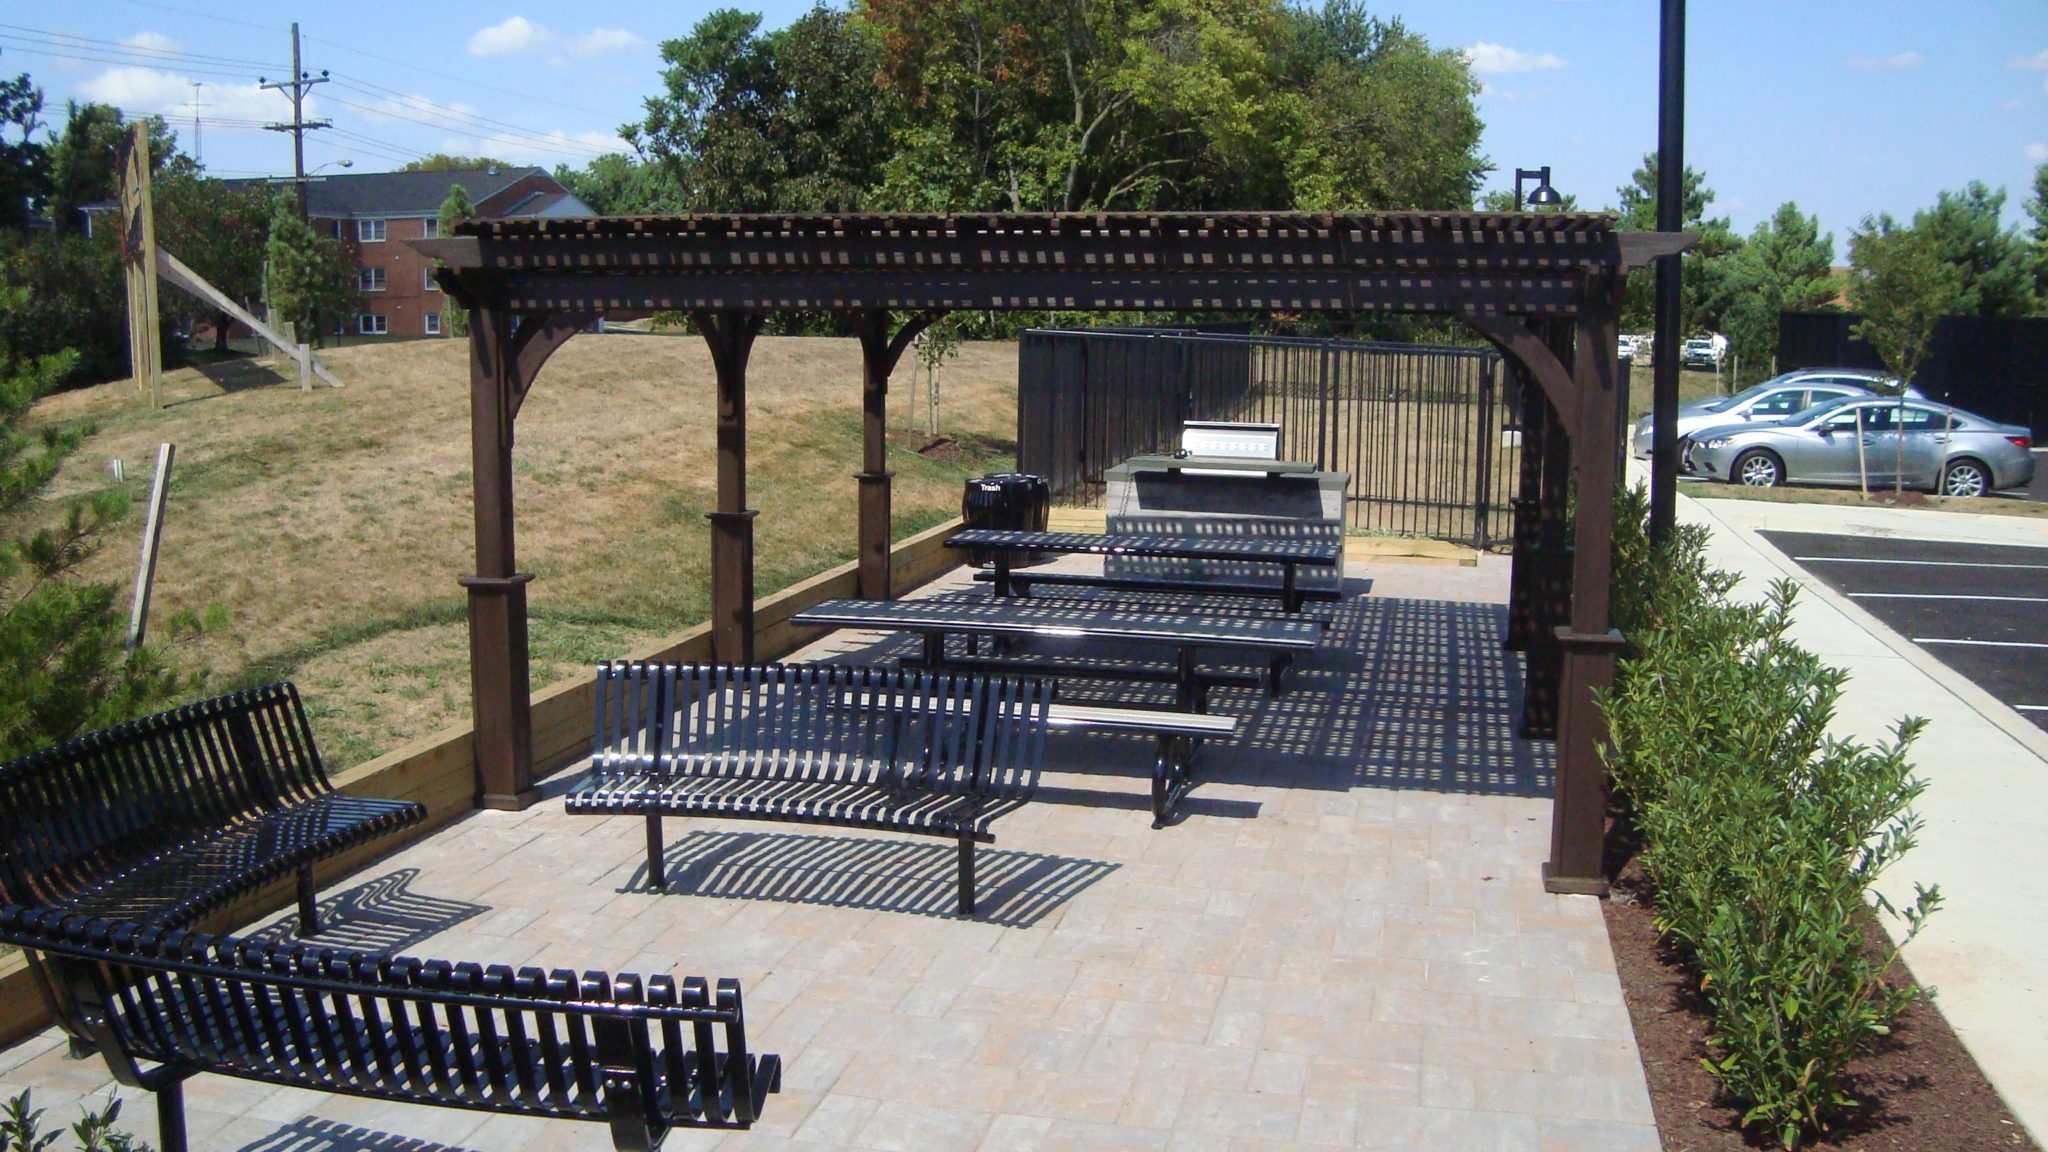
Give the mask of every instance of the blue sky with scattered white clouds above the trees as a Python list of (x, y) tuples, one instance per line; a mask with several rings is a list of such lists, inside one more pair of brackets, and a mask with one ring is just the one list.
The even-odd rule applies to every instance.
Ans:
[[(809, 2), (739, 4), (770, 27)], [(2042, 0), (1694, 0), (1688, 20), (1686, 158), (1714, 213), (1747, 232), (1782, 201), (1835, 234), (1866, 215), (1911, 215), (1939, 189), (1985, 180), (2019, 219), (2048, 160), (2048, 4)], [(291, 170), (289, 119), (258, 76), (289, 70), (287, 25), (305, 68), (328, 70), (311, 109), (334, 131), (307, 164), (393, 168), (422, 152), (582, 164), (618, 148), (659, 90), (657, 43), (709, 4), (614, 0), (481, 6), (356, 0), (291, 12), (246, 0), (82, 0), (0, 6), (0, 72), (31, 72), (51, 119), (68, 98), (164, 113), (217, 174)], [(1442, 47), (1470, 51), (1485, 82), (1485, 154), (1505, 187), (1548, 164), (1585, 207), (1657, 146), (1657, 0), (1384, 0)], [(186, 139), (190, 148), (190, 139)], [(330, 168), (332, 170), (332, 168)]]

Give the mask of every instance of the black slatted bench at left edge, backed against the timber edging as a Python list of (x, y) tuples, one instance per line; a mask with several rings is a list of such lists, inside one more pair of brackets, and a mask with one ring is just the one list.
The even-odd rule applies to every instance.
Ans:
[(313, 863), (426, 820), (334, 791), (299, 691), (248, 689), (66, 740), (0, 767), (8, 904), (186, 927)]

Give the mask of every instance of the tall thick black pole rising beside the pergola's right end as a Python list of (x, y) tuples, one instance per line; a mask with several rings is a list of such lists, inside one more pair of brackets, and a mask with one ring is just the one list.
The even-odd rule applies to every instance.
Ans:
[[(1657, 70), (1657, 232), (1686, 228), (1686, 0), (1663, 0)], [(1657, 258), (1657, 344), (1651, 373), (1651, 543), (1677, 527), (1679, 260)]]

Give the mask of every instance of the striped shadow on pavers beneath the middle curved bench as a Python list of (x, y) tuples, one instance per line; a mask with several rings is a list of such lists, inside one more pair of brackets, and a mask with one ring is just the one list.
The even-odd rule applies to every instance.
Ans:
[[(662, 857), (672, 896), (778, 900), (958, 916), (956, 849), (946, 842), (696, 830)], [(1042, 853), (975, 849), (975, 920), (1028, 929), (1116, 865)], [(641, 863), (623, 892), (647, 890)]]

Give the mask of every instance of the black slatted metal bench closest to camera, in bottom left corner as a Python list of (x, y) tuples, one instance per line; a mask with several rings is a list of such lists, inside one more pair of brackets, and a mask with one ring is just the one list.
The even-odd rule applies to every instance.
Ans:
[(780, 1058), (748, 1054), (733, 980), (514, 972), (14, 906), (0, 941), (41, 953), (115, 1080), (156, 1093), (162, 1152), (186, 1150), (199, 1072), (602, 1121), (621, 1150), (750, 1127), (780, 1091)]

